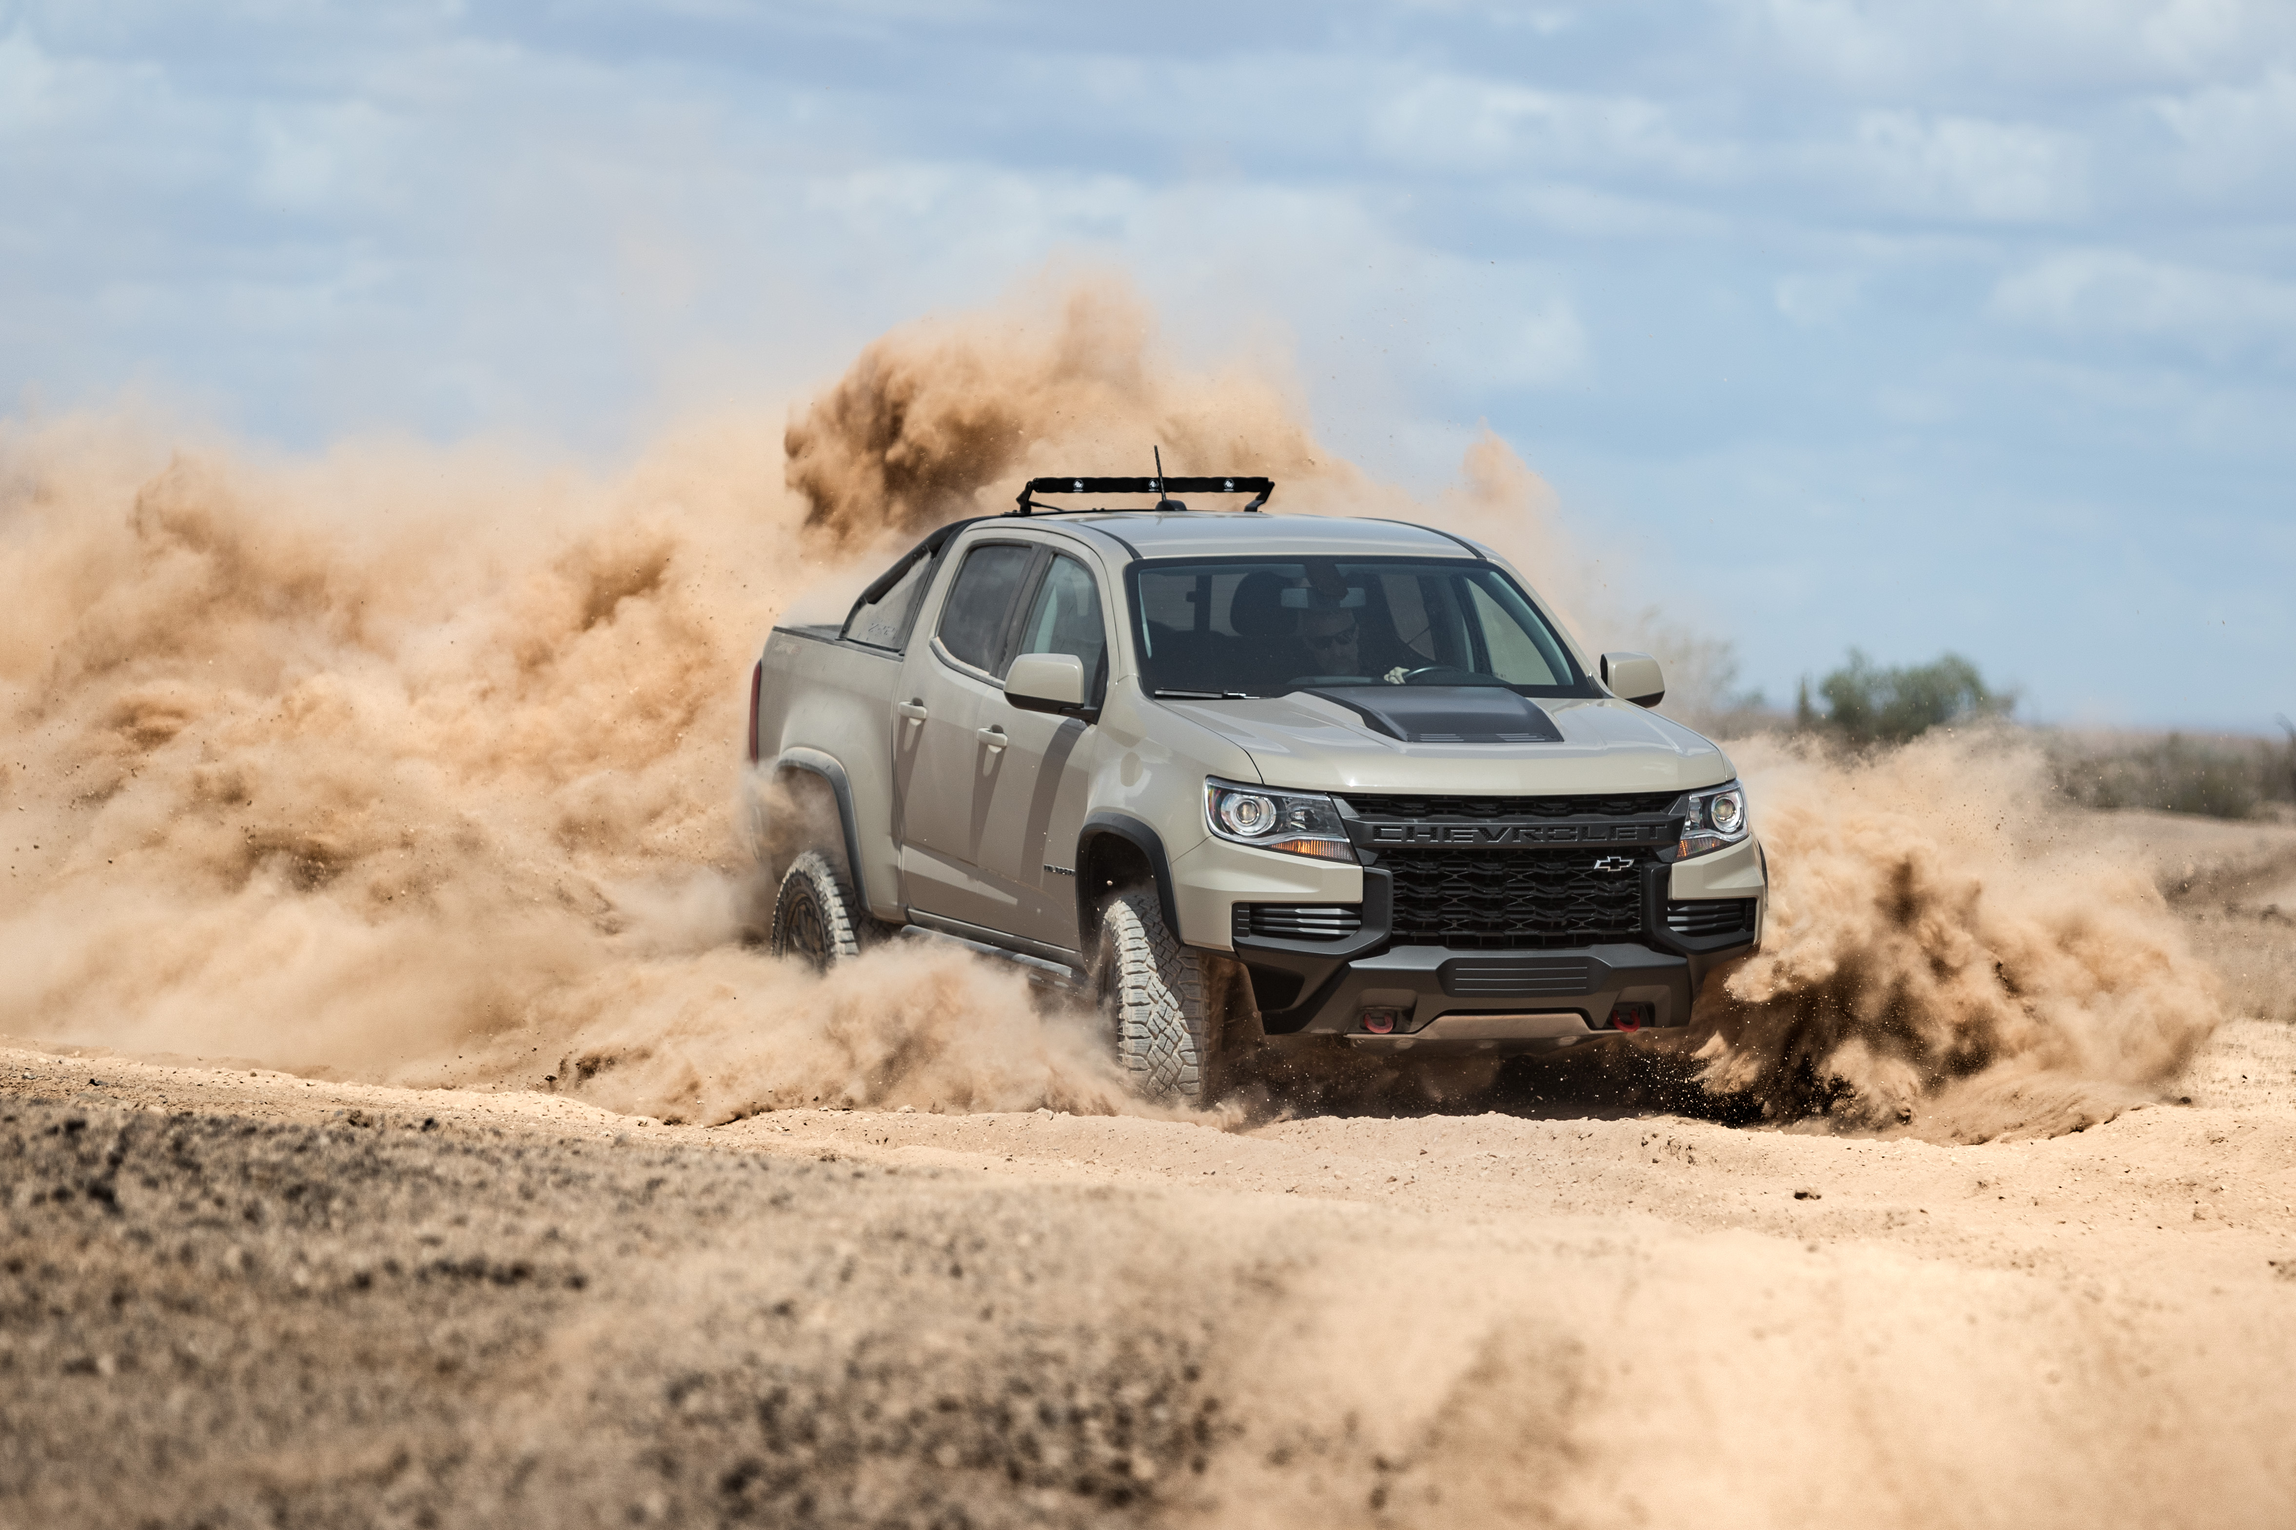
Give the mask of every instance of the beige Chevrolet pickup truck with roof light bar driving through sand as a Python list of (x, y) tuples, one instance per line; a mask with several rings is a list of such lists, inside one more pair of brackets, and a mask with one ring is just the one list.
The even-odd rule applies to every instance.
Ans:
[(1270, 491), (1033, 479), (840, 626), (776, 626), (753, 784), (817, 810), (769, 853), (774, 950), (827, 966), (900, 931), (1022, 961), (1180, 1101), (1224, 1037), (1522, 1053), (1688, 1025), (1761, 940), (1768, 876), (1729, 759), (1649, 711), (1658, 663), (1589, 661), (1486, 546), (1258, 514)]

